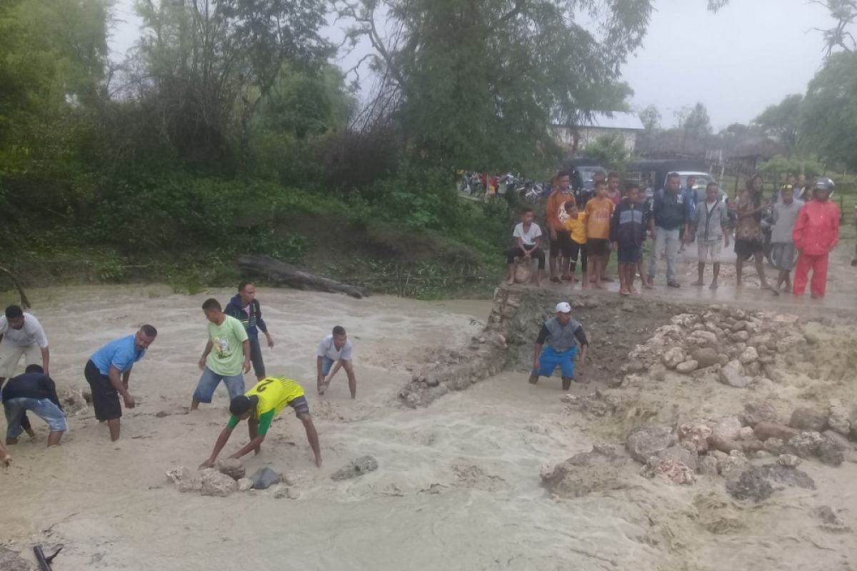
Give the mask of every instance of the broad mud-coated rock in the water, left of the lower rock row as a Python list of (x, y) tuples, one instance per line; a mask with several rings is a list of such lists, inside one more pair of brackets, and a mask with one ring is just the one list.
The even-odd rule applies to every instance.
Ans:
[(559, 466), (542, 472), (542, 485), (560, 497), (581, 497), (594, 491), (626, 488), (620, 477), (624, 462), (607, 446), (573, 455)]

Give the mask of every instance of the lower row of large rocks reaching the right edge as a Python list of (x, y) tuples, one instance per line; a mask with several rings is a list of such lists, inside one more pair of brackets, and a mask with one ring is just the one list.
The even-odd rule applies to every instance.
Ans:
[[(827, 412), (797, 408), (786, 425), (770, 402), (750, 402), (740, 416), (694, 419), (675, 431), (661, 426), (632, 431), (626, 449), (645, 465), (644, 474), (675, 484), (692, 484), (694, 472), (738, 478), (750, 460), (773, 456), (783, 467), (811, 458), (839, 466), (846, 455), (855, 455), (847, 437), (854, 418), (843, 418), (843, 410), (838, 402)], [(836, 430), (828, 430), (833, 425)]]

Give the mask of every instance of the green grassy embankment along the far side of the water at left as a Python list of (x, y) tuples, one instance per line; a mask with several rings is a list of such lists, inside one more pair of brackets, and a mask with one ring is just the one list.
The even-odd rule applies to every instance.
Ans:
[(139, 182), (34, 231), (8, 229), (3, 265), (30, 286), (159, 282), (196, 293), (234, 286), (237, 256), (262, 253), (375, 293), (490, 294), (505, 203), (462, 204), (454, 192), (418, 190), (391, 187), (370, 202), (263, 181)]

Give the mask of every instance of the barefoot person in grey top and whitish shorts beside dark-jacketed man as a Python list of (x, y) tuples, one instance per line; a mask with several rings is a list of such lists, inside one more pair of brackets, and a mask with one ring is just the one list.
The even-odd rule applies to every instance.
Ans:
[(688, 235), (696, 235), (699, 256), (699, 279), (693, 285), (705, 284), (705, 262), (710, 262), (714, 271), (709, 287), (716, 289), (720, 285), (720, 253), (724, 245), (729, 247), (728, 223), (729, 213), (726, 203), (720, 199), (720, 187), (716, 182), (709, 182), (705, 187), (705, 199), (694, 211), (692, 231), (688, 232)]

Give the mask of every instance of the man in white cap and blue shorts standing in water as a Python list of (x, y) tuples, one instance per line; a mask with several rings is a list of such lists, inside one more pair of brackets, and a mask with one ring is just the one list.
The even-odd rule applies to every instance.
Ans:
[[(548, 347), (542, 350), (545, 343)], [(561, 301), (556, 304), (556, 317), (544, 322), (536, 338), (530, 384), (538, 383), (539, 377), (550, 377), (559, 366), (562, 372), (562, 390), (568, 390), (574, 378), (574, 358), (578, 354), (578, 344), (580, 364), (585, 365), (589, 342), (586, 340), (584, 328), (572, 318), (572, 306)]]

